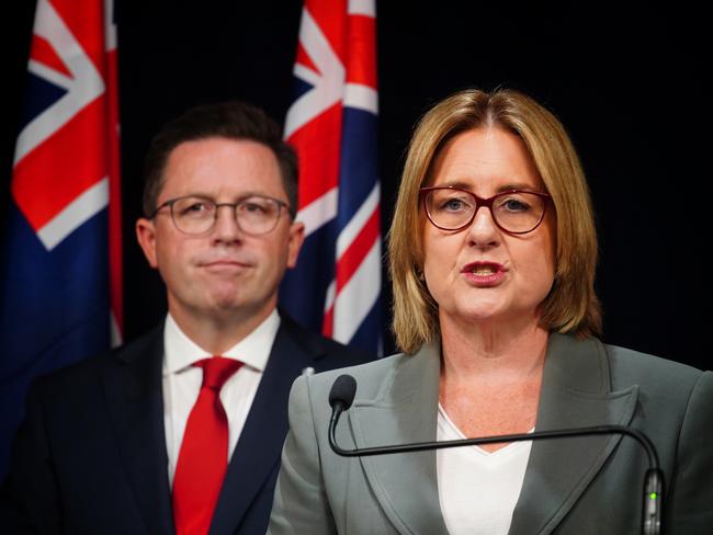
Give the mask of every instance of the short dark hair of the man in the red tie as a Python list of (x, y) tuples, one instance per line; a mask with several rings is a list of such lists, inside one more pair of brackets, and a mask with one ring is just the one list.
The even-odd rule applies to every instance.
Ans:
[(163, 171), (169, 156), (185, 141), (211, 137), (242, 139), (269, 147), (278, 159), (282, 185), (290, 202), (290, 214), (297, 213), (297, 155), (281, 135), (280, 126), (259, 107), (240, 101), (220, 102), (193, 107), (167, 123), (151, 139), (146, 153), (144, 175), (144, 214), (157, 208), (163, 186)]

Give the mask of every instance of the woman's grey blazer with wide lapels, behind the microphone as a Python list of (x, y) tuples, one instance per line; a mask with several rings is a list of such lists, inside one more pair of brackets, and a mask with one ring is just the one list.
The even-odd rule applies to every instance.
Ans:
[[(268, 533), (448, 533), (434, 452), (343, 458), (327, 442), (328, 394), (341, 373), (359, 385), (339, 423), (342, 447), (434, 441), (439, 354), (431, 344), (295, 382)], [(552, 334), (536, 430), (600, 424), (631, 425), (654, 442), (667, 483), (664, 533), (713, 533), (711, 372)], [(510, 534), (641, 533), (646, 468), (630, 437), (534, 442)]]

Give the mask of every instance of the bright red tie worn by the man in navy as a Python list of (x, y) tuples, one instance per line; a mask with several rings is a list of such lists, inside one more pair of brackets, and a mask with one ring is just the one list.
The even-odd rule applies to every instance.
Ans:
[(205, 535), (211, 527), (228, 466), (228, 419), (220, 388), (241, 364), (223, 356), (193, 364), (203, 368), (203, 384), (185, 424), (173, 477), (177, 535)]

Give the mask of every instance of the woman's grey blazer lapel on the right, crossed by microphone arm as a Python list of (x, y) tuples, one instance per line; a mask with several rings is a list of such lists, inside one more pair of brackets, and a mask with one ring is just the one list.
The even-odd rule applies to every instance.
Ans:
[[(597, 340), (552, 334), (536, 431), (626, 425), (637, 388), (610, 391), (609, 363)], [(551, 533), (619, 444), (621, 435), (535, 441), (510, 534)]]

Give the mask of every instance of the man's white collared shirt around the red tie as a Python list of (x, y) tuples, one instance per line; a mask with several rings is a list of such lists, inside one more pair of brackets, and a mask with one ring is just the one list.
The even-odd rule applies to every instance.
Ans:
[[(279, 328), (280, 316), (273, 310), (256, 330), (220, 355), (242, 362), (220, 389), (220, 401), (228, 417), (228, 460), (250, 412)], [(185, 423), (203, 382), (203, 369), (193, 363), (213, 355), (188, 338), (170, 314), (163, 328), (163, 425), (172, 488)]]

